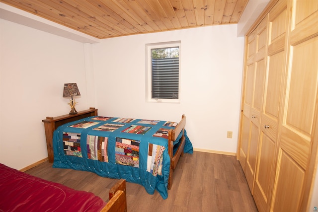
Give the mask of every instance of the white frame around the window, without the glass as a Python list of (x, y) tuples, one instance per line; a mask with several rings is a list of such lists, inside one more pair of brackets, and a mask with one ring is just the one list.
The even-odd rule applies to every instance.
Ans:
[[(151, 50), (157, 48), (179, 47), (179, 84), (177, 99), (153, 99), (152, 98), (152, 59)], [(181, 70), (181, 41), (146, 44), (146, 102), (180, 103), (180, 70)]]

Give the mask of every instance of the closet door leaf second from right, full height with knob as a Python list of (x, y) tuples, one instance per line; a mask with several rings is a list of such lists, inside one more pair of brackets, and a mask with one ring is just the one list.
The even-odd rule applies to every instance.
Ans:
[(285, 38), (288, 27), (287, 0), (269, 12), (269, 40), (264, 103), (260, 124), (259, 151), (253, 197), (259, 212), (269, 210), (274, 185), (274, 161), (279, 121), (279, 106), (285, 70)]

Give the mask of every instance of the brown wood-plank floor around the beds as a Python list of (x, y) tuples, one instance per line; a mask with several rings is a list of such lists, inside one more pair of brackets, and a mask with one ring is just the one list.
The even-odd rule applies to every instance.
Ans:
[[(52, 168), (44, 162), (26, 171), (31, 175), (94, 193), (108, 201), (116, 179), (85, 171)], [(128, 212), (257, 212), (244, 173), (235, 156), (194, 151), (184, 154), (174, 173), (168, 198), (127, 183)]]

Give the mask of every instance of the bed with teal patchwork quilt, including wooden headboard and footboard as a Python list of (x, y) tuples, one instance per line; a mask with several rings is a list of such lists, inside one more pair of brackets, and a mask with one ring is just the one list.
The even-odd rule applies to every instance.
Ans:
[(94, 172), (138, 183), (163, 199), (183, 153), (192, 153), (184, 115), (178, 123), (98, 116), (89, 108), (43, 120), (53, 167)]

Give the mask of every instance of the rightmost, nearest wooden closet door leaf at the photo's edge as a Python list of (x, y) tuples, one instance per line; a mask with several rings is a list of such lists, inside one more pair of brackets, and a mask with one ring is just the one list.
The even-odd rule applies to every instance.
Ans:
[[(291, 23), (281, 135), (270, 211), (305, 212), (317, 154), (318, 1), (289, 0)], [(318, 133), (318, 132), (316, 132)], [(310, 160), (312, 159), (312, 160)]]

